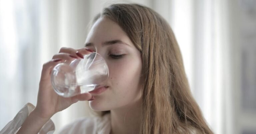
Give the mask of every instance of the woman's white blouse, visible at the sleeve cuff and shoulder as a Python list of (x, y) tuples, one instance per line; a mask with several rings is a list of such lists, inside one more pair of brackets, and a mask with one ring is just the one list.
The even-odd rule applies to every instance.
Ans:
[[(0, 134), (16, 134), (35, 106), (27, 103), (1, 131)], [(66, 125), (60, 134), (109, 134), (111, 130), (110, 114), (103, 117), (82, 117)], [(53, 134), (55, 126), (48, 120), (38, 134)]]

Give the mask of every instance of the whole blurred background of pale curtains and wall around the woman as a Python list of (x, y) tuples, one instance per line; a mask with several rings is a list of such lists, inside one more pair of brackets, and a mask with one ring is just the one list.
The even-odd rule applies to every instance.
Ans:
[[(130, 2), (171, 25), (214, 133), (256, 134), (256, 0), (0, 0), (0, 130), (27, 102), (36, 105), (45, 62), (61, 47), (83, 47), (103, 7)], [(85, 101), (55, 114), (56, 132), (81, 116)]]

